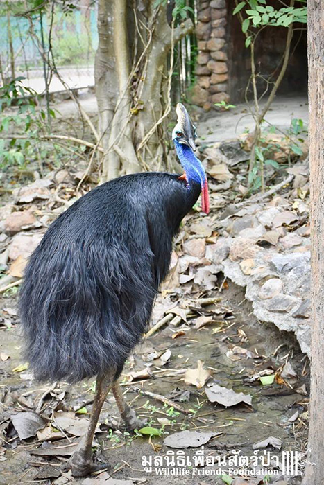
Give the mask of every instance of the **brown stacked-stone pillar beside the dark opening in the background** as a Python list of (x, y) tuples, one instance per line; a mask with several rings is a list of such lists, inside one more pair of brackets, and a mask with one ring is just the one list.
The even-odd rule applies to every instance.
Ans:
[(198, 56), (196, 86), (192, 102), (207, 111), (228, 101), (228, 56), (226, 42), (226, 0), (198, 1)]

